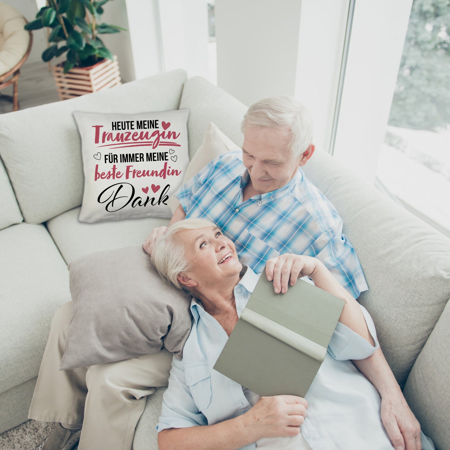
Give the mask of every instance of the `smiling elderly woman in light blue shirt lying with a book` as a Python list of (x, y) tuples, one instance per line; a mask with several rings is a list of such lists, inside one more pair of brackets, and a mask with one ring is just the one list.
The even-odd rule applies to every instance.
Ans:
[(195, 450), (393, 448), (380, 396), (350, 361), (378, 347), (374, 324), (319, 260), (286, 254), (266, 265), (275, 292), (307, 276), (346, 302), (305, 398), (259, 397), (212, 369), (259, 278), (239, 263), (220, 229), (203, 219), (175, 223), (157, 238), (152, 260), (164, 278), (193, 295), (191, 333), (183, 359), (173, 359), (157, 424), (160, 449), (181, 442)]

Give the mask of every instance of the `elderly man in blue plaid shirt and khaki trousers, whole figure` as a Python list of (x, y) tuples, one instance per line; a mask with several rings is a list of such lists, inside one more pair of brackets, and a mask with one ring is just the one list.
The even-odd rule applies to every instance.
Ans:
[[(182, 186), (176, 194), (181, 205), (170, 224), (184, 217), (215, 222), (235, 241), (240, 260), (255, 272), (282, 253), (315, 256), (357, 298), (367, 284), (356, 253), (342, 234), (342, 220), (300, 169), (315, 150), (305, 108), (288, 97), (262, 100), (249, 108), (242, 129), (243, 152), (221, 155)], [(153, 239), (165, 229), (152, 231), (144, 243), (148, 253)], [(274, 287), (284, 292), (280, 283)], [(167, 385), (171, 354), (163, 350), (92, 366), (89, 376), (86, 369), (58, 373), (70, 320), (70, 311), (59, 310), (29, 414), (31, 419), (59, 422), (40, 449), (70, 449), (81, 434), (79, 450), (129, 450), (145, 396), (154, 387)], [(394, 447), (419, 450), (419, 423), (382, 351), (355, 364), (382, 397), (381, 417)]]

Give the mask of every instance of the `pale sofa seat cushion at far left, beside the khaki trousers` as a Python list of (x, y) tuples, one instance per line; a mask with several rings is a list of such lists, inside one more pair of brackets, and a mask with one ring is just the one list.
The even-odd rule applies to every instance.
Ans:
[(66, 264), (43, 225), (0, 231), (0, 393), (36, 377), (57, 307), (70, 301)]

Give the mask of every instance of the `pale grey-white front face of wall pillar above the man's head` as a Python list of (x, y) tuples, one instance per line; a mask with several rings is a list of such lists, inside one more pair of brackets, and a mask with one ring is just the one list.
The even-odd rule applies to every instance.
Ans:
[(217, 85), (250, 105), (293, 95), (302, 2), (216, 0)]

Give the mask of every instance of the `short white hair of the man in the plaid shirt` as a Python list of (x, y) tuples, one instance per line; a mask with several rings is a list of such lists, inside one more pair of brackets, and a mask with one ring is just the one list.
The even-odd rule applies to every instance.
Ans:
[(300, 156), (312, 142), (313, 123), (308, 110), (287, 95), (270, 97), (253, 103), (244, 116), (241, 131), (247, 127), (288, 129), (288, 151)]

